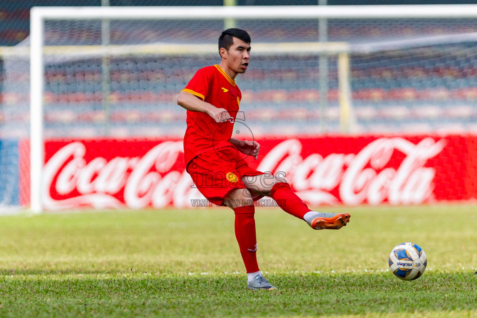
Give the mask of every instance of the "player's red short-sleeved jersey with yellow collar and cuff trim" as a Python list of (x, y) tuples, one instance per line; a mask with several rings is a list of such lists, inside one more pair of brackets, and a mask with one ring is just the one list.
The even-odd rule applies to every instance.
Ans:
[[(239, 87), (217, 64), (197, 71), (183, 89), (201, 100), (224, 108), (235, 119), (242, 94)], [(216, 123), (207, 113), (187, 111), (187, 130), (184, 136), (186, 166), (197, 154), (232, 145), (229, 142), (234, 121)]]

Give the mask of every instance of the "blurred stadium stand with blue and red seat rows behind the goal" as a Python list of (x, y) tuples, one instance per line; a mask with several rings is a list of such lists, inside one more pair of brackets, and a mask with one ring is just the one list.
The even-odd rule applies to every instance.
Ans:
[[(97, 6), (100, 0), (3, 0), (0, 3), (0, 45), (16, 45), (28, 36), (29, 10), (32, 6)], [(329, 0), (330, 5), (390, 4), (391, 1)], [(221, 0), (111, 0), (112, 6), (128, 5), (221, 5)], [(477, 3), (477, 1), (392, 1), (392, 4)], [(309, 0), (239, 0), (239, 5), (314, 5)], [(292, 22), (293, 23), (293, 22)], [(381, 23), (381, 24), (380, 24)], [(268, 22), (270, 24), (270, 22)], [(240, 24), (238, 25), (241, 26)], [(316, 21), (300, 21), (280, 29), (279, 25), (264, 28), (260, 22), (242, 26), (249, 30), (253, 41), (316, 41)], [(96, 28), (100, 29), (100, 23)], [(174, 26), (168, 26), (174, 27)], [(184, 27), (184, 26), (182, 26)], [(194, 24), (188, 25), (194, 30)], [(201, 38), (216, 38), (219, 23)], [(290, 29), (291, 28), (291, 29)], [(145, 42), (143, 36), (131, 32), (127, 23), (111, 24), (111, 44)], [(290, 32), (292, 30), (292, 32)], [(436, 34), (477, 32), (474, 19), (427, 21), (355, 21), (350, 29), (347, 21), (329, 21), (329, 41), (351, 44), (373, 42), (392, 36), (394, 40)], [(93, 32), (93, 34), (100, 34)], [(147, 36), (167, 42), (167, 32), (161, 23), (150, 24)], [(101, 37), (84, 37), (77, 32), (77, 44), (100, 44)], [(183, 33), (182, 41), (197, 42), (194, 32)], [(290, 37), (290, 38), (287, 38)], [(173, 41), (175, 39), (171, 39)], [(48, 38), (45, 39), (48, 45)], [(54, 38), (62, 44), (61, 37)], [(71, 41), (71, 38), (68, 40)], [(147, 41), (146, 41), (147, 42)], [(194, 42), (194, 41), (193, 41)], [(477, 131), (477, 41), (434, 45), (425, 53), (418, 49), (353, 54), (353, 107), (361, 132), (430, 132), (437, 130)], [(69, 43), (64, 43), (69, 44)], [(465, 52), (465, 54), (462, 54)], [(218, 56), (158, 61), (144, 57), (141, 61), (116, 58), (111, 61), (111, 133), (131, 135), (182, 135), (185, 112), (176, 106), (176, 94), (198, 68), (218, 62)], [(0, 60), (0, 92), (4, 62)], [(253, 67), (238, 79), (247, 103), (247, 122), (273, 123), (254, 133), (300, 134), (319, 133), (320, 121), (317, 56), (281, 56), (276, 60), (254, 58)], [(46, 136), (96, 136), (98, 123), (105, 121), (102, 110), (101, 60), (62, 62), (46, 69)], [(158, 85), (158, 83), (160, 85)], [(3, 103), (19, 100), (21, 95), (0, 94), (0, 123), (7, 127), (13, 120), (3, 111)], [(339, 131), (338, 82), (336, 60), (330, 59), (329, 101), (327, 118), (329, 131)], [(77, 107), (75, 107), (75, 105)], [(158, 105), (161, 112), (157, 112)], [(10, 116), (10, 117), (9, 117)], [(22, 116), (22, 115), (21, 115)], [(20, 116), (20, 117), (21, 117)], [(15, 133), (18, 134), (18, 133)], [(26, 133), (25, 133), (26, 136)]]

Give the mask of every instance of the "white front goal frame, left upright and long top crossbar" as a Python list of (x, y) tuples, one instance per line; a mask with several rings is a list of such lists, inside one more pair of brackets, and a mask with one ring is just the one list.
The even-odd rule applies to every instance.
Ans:
[[(42, 211), (43, 24), (46, 20), (271, 20), (477, 18), (477, 5), (240, 6), (240, 7), (33, 7), (30, 11), (31, 211)], [(342, 52), (340, 54), (346, 54)], [(344, 55), (342, 55), (344, 57)], [(348, 67), (343, 58), (343, 67)], [(344, 75), (343, 75), (344, 76)], [(341, 92), (349, 95), (349, 90)]]

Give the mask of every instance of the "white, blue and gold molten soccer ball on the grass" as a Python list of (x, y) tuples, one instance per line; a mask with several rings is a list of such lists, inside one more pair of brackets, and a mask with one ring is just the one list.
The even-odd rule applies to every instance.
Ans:
[(406, 242), (394, 247), (389, 254), (389, 268), (402, 280), (415, 280), (424, 274), (427, 257), (417, 244)]

